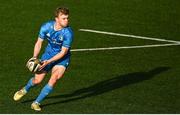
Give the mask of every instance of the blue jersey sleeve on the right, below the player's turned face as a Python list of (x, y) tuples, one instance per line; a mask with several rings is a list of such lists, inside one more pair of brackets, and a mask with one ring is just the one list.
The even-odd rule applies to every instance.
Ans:
[(70, 48), (71, 44), (72, 44), (72, 41), (73, 41), (73, 32), (68, 31), (64, 35), (64, 41), (63, 41), (62, 46)]

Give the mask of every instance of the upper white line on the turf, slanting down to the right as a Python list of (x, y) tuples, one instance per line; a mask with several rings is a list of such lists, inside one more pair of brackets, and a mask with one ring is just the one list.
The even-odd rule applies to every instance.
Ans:
[(122, 37), (139, 38), (139, 39), (147, 39), (147, 40), (154, 40), (154, 41), (162, 41), (162, 42), (180, 44), (180, 41), (166, 40), (166, 39), (152, 38), (152, 37), (144, 37), (144, 36), (136, 36), (136, 35), (128, 35), (128, 34), (119, 34), (119, 33), (97, 31), (97, 30), (91, 30), (91, 29), (79, 29), (79, 31), (93, 32), (93, 33), (99, 33), (99, 34), (107, 34), (107, 35), (115, 35), (115, 36), (122, 36)]

